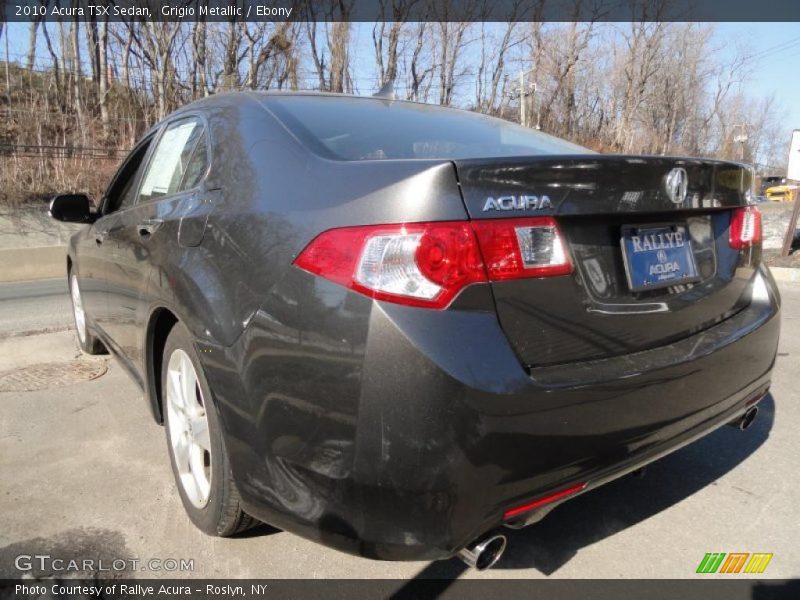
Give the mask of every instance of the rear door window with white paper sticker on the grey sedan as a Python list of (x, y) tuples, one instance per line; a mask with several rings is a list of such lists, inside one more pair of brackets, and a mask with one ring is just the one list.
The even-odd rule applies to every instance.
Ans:
[[(186, 181), (185, 175), (196, 154), (195, 150), (200, 140), (203, 140), (205, 147), (203, 123), (199, 119), (181, 119), (167, 127), (161, 139), (158, 140), (158, 145), (150, 158), (150, 164), (147, 166), (139, 191), (139, 202), (146, 202), (188, 189), (186, 185), (182, 184)], [(205, 151), (203, 151), (203, 161), (205, 162)], [(193, 168), (196, 169), (196, 167)], [(197, 184), (203, 172), (204, 169), (196, 175), (193, 185)]]

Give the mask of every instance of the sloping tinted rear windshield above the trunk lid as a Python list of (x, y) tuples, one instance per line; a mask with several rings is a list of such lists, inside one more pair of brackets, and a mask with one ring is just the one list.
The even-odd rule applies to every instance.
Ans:
[(272, 97), (266, 106), (313, 151), (338, 160), (591, 154), (478, 113), (370, 98)]

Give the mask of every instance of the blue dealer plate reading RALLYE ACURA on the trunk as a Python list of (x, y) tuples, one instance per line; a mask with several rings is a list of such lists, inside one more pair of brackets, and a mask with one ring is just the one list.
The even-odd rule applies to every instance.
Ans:
[(622, 256), (634, 292), (698, 281), (686, 225), (622, 228)]

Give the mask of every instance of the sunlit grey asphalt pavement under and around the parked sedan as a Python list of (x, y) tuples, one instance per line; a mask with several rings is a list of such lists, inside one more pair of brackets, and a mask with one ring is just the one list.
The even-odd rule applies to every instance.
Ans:
[[(36, 554), (122, 560), (114, 574), (137, 577), (742, 577), (695, 574), (708, 552), (772, 553), (762, 577), (799, 577), (800, 285), (781, 291), (772, 394), (748, 431), (723, 427), (643, 479), (612, 482), (509, 532), (486, 572), (456, 559), (369, 561), (268, 526), (233, 539), (202, 534), (175, 491), (163, 429), (112, 359), (92, 381), (0, 392), (0, 577), (23, 574), (18, 557)], [(4, 373), (29, 365), (94, 360), (80, 357), (71, 324), (63, 281), (0, 285), (0, 387)]]

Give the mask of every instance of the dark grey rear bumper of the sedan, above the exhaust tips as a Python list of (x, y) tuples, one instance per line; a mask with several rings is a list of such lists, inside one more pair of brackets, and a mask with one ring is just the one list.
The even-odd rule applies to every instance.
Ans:
[(753, 281), (747, 308), (690, 338), (560, 367), (526, 371), (491, 313), (379, 303), (349, 351), (261, 314), (224, 359), (201, 355), (248, 512), (371, 558), (444, 558), (554, 504), (505, 510), (590, 490), (762, 397), (780, 299), (766, 268)]

